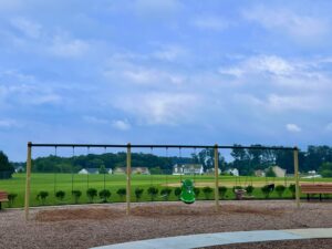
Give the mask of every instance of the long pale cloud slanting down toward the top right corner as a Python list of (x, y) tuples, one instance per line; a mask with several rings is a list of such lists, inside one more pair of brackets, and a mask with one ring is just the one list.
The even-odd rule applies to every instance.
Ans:
[[(259, 6), (243, 11), (243, 17), (258, 22), (270, 31), (278, 30), (290, 37), (317, 40), (330, 32), (329, 22), (321, 17), (297, 14), (289, 9), (266, 8)], [(303, 40), (303, 42), (305, 42)]]

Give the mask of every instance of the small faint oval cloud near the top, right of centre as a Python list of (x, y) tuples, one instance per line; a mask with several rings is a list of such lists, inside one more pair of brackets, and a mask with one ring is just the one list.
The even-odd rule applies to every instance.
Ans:
[(229, 27), (229, 22), (224, 18), (206, 15), (194, 19), (193, 24), (201, 30), (221, 31)]

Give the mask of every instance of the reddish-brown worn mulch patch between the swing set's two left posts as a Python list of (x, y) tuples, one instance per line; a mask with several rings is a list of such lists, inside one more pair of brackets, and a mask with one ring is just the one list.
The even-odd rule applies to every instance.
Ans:
[(69, 221), (69, 220), (104, 220), (121, 218), (125, 214), (115, 208), (77, 208), (41, 210), (35, 214), (37, 221)]

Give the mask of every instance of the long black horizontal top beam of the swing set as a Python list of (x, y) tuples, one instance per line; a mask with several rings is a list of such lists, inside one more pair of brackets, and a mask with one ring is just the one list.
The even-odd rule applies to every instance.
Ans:
[(298, 151), (298, 147), (287, 146), (241, 146), (241, 145), (142, 145), (142, 144), (33, 144), (28, 143), (28, 147), (101, 147), (101, 148), (243, 148), (243, 149), (284, 149)]

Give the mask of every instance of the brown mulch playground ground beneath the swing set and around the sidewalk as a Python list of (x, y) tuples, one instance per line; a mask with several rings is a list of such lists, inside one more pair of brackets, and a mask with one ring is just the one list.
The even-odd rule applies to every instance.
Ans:
[[(91, 248), (191, 234), (332, 227), (331, 201), (302, 203), (300, 209), (290, 200), (220, 201), (219, 211), (215, 211), (212, 201), (190, 206), (141, 203), (132, 207), (129, 217), (125, 204), (35, 208), (29, 222), (24, 221), (23, 210), (6, 209), (0, 212), (0, 248)], [(329, 239), (315, 241), (307, 245), (331, 245)], [(302, 242), (276, 243), (215, 248), (289, 248), (289, 243)]]

